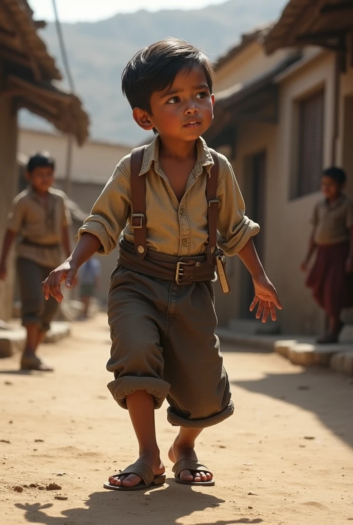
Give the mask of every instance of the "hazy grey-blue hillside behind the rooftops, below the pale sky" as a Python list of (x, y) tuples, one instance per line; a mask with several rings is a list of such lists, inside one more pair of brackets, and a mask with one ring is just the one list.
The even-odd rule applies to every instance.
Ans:
[[(76, 90), (90, 113), (92, 137), (129, 143), (143, 139), (120, 89), (121, 72), (136, 51), (175, 36), (201, 46), (216, 59), (242, 33), (276, 18), (283, 5), (284, 0), (230, 0), (198, 10), (140, 10), (95, 23), (63, 24)], [(55, 26), (49, 24), (40, 35), (61, 66)], [(22, 121), (38, 125), (28, 114)]]

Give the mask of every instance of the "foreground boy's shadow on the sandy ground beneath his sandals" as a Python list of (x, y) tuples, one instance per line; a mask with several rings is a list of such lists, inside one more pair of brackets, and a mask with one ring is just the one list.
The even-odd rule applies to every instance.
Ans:
[[(190, 516), (196, 511), (206, 511), (206, 521), (198, 525), (231, 525), (233, 523), (261, 523), (260, 518), (252, 519), (242, 516), (230, 516), (227, 521), (215, 521), (214, 508), (224, 503), (210, 494), (193, 491), (191, 487), (171, 485), (164, 490), (118, 492), (94, 492), (85, 502), (86, 508), (69, 508), (58, 517), (48, 516), (46, 509), (52, 503), (40, 505), (33, 503), (16, 503), (18, 509), (24, 510), (24, 517), (29, 523), (45, 525), (110, 525), (114, 523), (133, 523), (133, 525), (171, 525), (181, 518)], [(191, 493), (192, 492), (192, 493)], [(235, 513), (235, 512), (234, 512)], [(234, 519), (232, 519), (234, 518)]]

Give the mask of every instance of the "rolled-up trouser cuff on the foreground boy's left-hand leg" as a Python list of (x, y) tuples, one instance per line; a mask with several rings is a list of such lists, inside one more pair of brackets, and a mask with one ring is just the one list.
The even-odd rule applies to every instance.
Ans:
[(146, 390), (154, 397), (154, 407), (160, 408), (165, 397), (169, 392), (170, 384), (156, 377), (136, 377), (124, 375), (108, 383), (108, 388), (115, 401), (122, 408), (128, 408), (126, 396), (133, 394), (137, 390)]

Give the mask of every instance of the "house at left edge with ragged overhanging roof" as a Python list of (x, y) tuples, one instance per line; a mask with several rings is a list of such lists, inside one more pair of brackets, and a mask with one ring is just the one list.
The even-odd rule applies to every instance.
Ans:
[[(0, 243), (9, 207), (18, 190), (18, 124), (20, 108), (46, 119), (79, 145), (88, 136), (88, 116), (78, 97), (60, 89), (61, 74), (38, 35), (44, 22), (33, 19), (26, 0), (0, 0)], [(12, 313), (13, 265), (0, 283), (0, 319)]]

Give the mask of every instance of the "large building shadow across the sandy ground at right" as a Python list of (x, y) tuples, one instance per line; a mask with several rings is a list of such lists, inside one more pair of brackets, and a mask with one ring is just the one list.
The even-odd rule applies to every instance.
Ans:
[(313, 412), (336, 436), (353, 447), (351, 378), (313, 367), (299, 374), (267, 374), (262, 379), (232, 384)]

